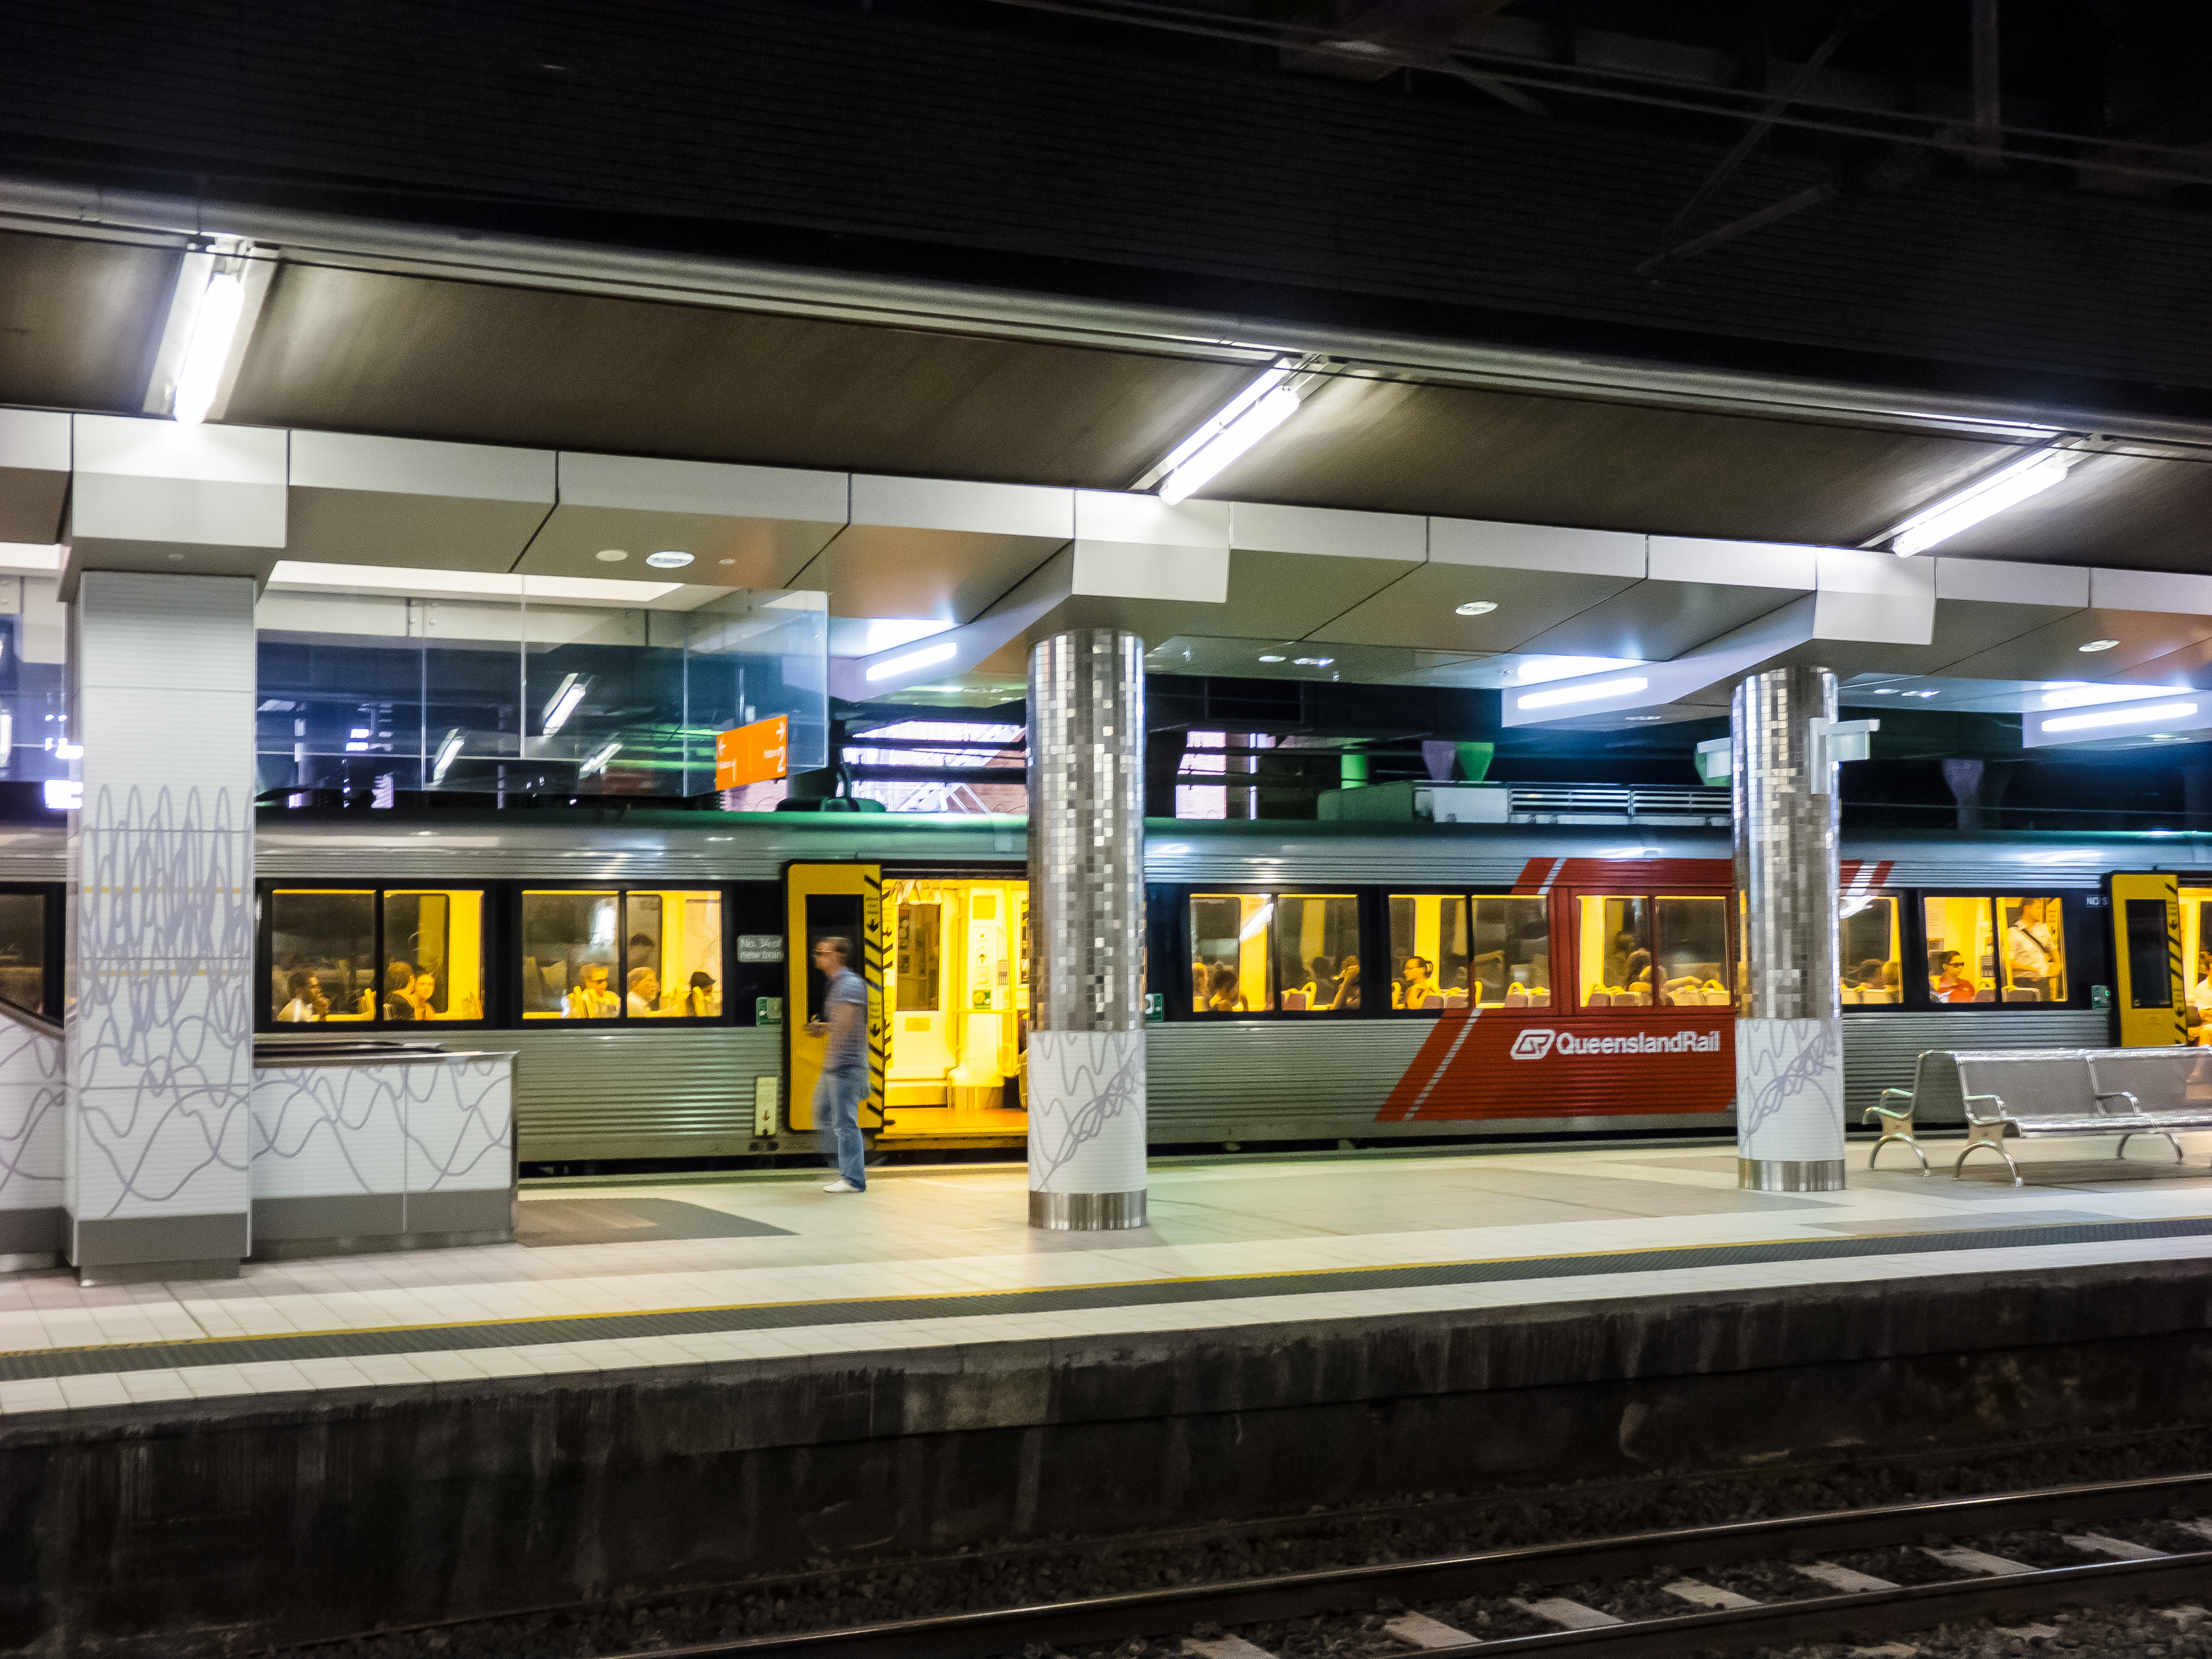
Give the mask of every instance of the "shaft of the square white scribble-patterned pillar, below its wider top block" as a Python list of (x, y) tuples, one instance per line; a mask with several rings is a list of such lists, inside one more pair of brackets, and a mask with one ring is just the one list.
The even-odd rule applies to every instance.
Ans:
[(69, 814), (69, 1259), (234, 1274), (250, 1248), (254, 582), (86, 571)]

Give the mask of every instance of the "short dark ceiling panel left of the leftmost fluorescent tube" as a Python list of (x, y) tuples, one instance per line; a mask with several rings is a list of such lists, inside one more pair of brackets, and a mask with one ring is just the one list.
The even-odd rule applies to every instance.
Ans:
[(0, 403), (137, 414), (177, 254), (0, 232)]

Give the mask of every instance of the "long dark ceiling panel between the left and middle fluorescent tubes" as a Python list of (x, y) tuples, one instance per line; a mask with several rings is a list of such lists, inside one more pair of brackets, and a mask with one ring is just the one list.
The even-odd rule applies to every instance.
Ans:
[(1124, 489), (1252, 374), (288, 265), (230, 420)]

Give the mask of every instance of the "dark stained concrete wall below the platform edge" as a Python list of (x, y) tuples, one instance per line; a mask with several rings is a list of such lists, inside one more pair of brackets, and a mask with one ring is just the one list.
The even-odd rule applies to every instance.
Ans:
[(823, 1555), (2205, 1422), (2208, 1327), (2199, 1265), (2130, 1263), (20, 1418), (0, 1650), (250, 1650)]

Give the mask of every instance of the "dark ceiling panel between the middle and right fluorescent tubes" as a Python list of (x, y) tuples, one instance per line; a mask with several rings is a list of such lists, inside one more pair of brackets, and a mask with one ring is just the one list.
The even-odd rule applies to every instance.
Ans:
[(1206, 493), (1854, 546), (2004, 453), (1969, 438), (1349, 378)]

